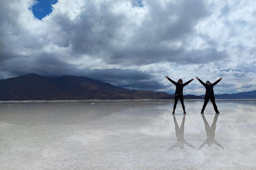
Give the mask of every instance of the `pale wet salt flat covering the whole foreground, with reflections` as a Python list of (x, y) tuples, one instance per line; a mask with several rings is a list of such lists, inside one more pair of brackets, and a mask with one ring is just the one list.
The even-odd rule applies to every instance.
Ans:
[(255, 169), (255, 100), (202, 105), (0, 102), (0, 169)]

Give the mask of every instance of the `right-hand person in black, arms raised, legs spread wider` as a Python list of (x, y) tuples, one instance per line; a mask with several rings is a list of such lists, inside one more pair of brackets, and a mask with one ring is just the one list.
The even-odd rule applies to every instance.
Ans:
[(214, 83), (211, 83), (210, 81), (206, 81), (206, 83), (204, 83), (202, 80), (200, 80), (198, 77), (196, 77), (196, 79), (201, 82), (201, 84), (203, 84), (203, 86), (205, 87), (206, 91), (205, 91), (205, 96), (204, 96), (204, 105), (201, 111), (201, 114), (204, 114), (204, 109), (209, 101), (209, 99), (212, 101), (212, 105), (214, 108), (214, 111), (216, 112), (216, 114), (219, 114), (220, 112), (218, 111), (217, 105), (215, 103), (215, 97), (214, 97), (214, 91), (213, 91), (213, 87), (220, 82), (220, 80), (222, 80), (222, 78), (220, 78), (219, 80), (215, 81)]

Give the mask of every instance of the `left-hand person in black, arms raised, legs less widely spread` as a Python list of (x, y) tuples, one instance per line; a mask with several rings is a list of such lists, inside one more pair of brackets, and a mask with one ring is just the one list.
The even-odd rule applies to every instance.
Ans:
[(186, 114), (185, 111), (185, 105), (184, 105), (184, 101), (183, 101), (183, 87), (187, 86), (188, 83), (190, 83), (191, 81), (193, 81), (194, 79), (189, 80), (186, 83), (182, 83), (182, 79), (179, 79), (178, 82), (173, 81), (172, 79), (170, 79), (169, 77), (166, 76), (166, 79), (168, 79), (169, 81), (171, 81), (175, 86), (176, 86), (176, 91), (175, 91), (175, 97), (174, 97), (174, 105), (173, 105), (173, 112), (172, 114), (175, 114), (175, 109), (176, 109), (176, 105), (178, 103), (178, 100), (180, 99), (180, 103), (182, 105), (183, 108), (183, 113)]

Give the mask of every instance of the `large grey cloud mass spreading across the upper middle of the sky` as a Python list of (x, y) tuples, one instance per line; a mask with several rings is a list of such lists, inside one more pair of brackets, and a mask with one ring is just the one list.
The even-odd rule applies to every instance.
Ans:
[[(140, 65), (159, 60), (189, 63), (209, 55), (209, 52), (218, 56), (213, 52), (216, 49), (198, 50), (198, 55), (193, 56), (187, 54), (183, 47), (175, 49), (162, 45), (163, 42), (173, 43), (177, 39), (183, 41), (193, 31), (197, 21), (209, 15), (203, 1), (170, 2), (165, 6), (155, 1), (146, 3), (149, 16), (141, 21), (140, 26), (135, 25), (129, 34), (126, 32), (130, 29), (127, 23), (132, 22), (129, 15), (111, 11), (113, 4), (96, 6), (92, 1), (87, 1), (75, 22), (70, 21), (67, 13), (56, 14), (52, 20), (60, 30), (54, 32), (56, 36), (51, 36), (52, 43), (60, 47), (70, 45), (75, 54), (97, 55), (108, 64)], [(192, 59), (187, 60), (187, 55)], [(214, 57), (206, 60), (212, 61)]]

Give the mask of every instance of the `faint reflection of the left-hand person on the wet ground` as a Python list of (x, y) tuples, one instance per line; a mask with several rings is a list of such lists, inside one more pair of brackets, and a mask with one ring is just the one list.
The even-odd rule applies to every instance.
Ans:
[(186, 115), (183, 115), (182, 123), (181, 123), (180, 128), (179, 128), (179, 125), (177, 123), (175, 115), (173, 115), (173, 121), (174, 121), (174, 124), (175, 124), (175, 131), (176, 131), (175, 134), (176, 134), (176, 137), (177, 137), (177, 142), (170, 149), (172, 149), (174, 147), (180, 147), (180, 149), (183, 149), (184, 148), (184, 144), (187, 144), (191, 148), (195, 148), (190, 143), (185, 141), (185, 139), (184, 139), (185, 116)]

